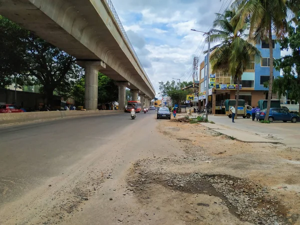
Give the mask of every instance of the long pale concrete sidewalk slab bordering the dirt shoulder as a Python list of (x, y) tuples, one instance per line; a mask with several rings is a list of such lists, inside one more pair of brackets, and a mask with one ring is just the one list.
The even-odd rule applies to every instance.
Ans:
[(280, 143), (279, 141), (266, 139), (266, 138), (263, 138), (259, 135), (256, 135), (256, 134), (253, 134), (250, 132), (226, 127), (226, 126), (216, 124), (216, 123), (202, 122), (200, 124), (202, 126), (212, 129), (215, 132), (219, 132), (224, 135), (234, 137), (235, 139), (242, 141), (242, 142), (260, 142), (260, 143), (276, 143), (276, 144)]

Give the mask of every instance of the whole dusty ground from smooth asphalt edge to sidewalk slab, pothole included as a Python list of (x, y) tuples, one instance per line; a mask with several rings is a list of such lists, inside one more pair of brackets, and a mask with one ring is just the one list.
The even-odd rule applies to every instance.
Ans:
[(4, 205), (0, 224), (300, 224), (298, 148), (154, 117), (138, 125), (148, 128), (115, 134)]

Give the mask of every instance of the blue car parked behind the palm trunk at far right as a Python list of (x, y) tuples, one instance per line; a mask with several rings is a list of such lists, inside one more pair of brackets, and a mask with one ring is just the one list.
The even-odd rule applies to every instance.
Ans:
[[(264, 120), (265, 113), (266, 113), (266, 109), (257, 111), (255, 114), (255, 117), (259, 120)], [(272, 121), (297, 122), (297, 121), (300, 121), (300, 117), (296, 114), (289, 113), (282, 108), (270, 108), (268, 120), (270, 122), (272, 122)]]

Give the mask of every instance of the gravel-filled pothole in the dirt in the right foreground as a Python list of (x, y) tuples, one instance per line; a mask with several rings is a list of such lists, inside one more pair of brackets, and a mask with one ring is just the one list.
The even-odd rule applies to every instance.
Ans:
[(138, 164), (134, 167), (134, 174), (128, 179), (128, 184), (134, 186), (137, 194), (145, 195), (149, 185), (159, 184), (172, 191), (219, 197), (229, 212), (242, 221), (255, 224), (290, 224), (293, 220), (286, 218), (286, 209), (275, 197), (268, 195), (267, 188), (251, 180), (229, 175), (143, 171)]

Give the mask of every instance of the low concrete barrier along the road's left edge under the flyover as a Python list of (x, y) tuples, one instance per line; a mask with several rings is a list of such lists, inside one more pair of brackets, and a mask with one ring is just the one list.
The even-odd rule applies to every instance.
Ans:
[(67, 111), (38, 111), (21, 113), (0, 113), (0, 126), (14, 123), (25, 123), (43, 120), (60, 119), (75, 116), (91, 116), (123, 113), (119, 110), (67, 110)]

